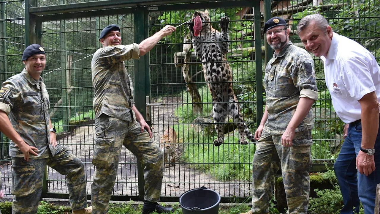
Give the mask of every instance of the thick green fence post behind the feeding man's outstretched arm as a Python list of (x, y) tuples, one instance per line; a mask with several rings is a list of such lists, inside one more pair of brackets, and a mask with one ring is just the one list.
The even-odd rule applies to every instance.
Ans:
[[(140, 43), (142, 40), (147, 38), (148, 35), (148, 25), (146, 24), (147, 12), (144, 8), (138, 8), (134, 14), (134, 29), (135, 29), (135, 43)], [(148, 75), (146, 75), (146, 73)], [(141, 56), (139, 60), (135, 60), (135, 105), (142, 116), (145, 118), (146, 106), (145, 106), (145, 96), (147, 96), (147, 86), (149, 85), (149, 54)], [(150, 126), (150, 121), (147, 121)], [(137, 177), (139, 185), (139, 197), (144, 199), (144, 165), (138, 161), (137, 162)]]

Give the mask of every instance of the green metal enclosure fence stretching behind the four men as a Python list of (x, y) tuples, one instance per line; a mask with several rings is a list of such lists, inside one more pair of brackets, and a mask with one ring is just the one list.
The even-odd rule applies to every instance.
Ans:
[[(100, 48), (100, 31), (108, 24), (119, 25), (122, 43), (129, 44), (141, 42), (166, 24), (177, 26), (189, 20), (195, 11), (207, 10), (211, 25), (218, 31), (220, 18), (229, 16), (227, 59), (233, 73), (234, 93), (252, 133), (261, 120), (265, 101), (262, 70), (272, 56), (262, 34), (264, 19), (283, 16), (291, 27), (291, 40), (299, 45), (300, 41), (294, 35), (299, 19), (307, 14), (322, 13), (328, 17), (336, 32), (356, 39), (376, 57), (380, 53), (379, 26), (374, 22), (380, 13), (380, 10), (375, 10), (380, 5), (379, 0), (184, 2), (0, 2), (0, 80), (21, 72), (21, 54), (26, 45), (40, 43), (44, 47), (47, 64), (42, 77), (50, 95), (51, 120), (59, 132), (59, 143), (84, 162), (88, 194), (94, 171), (92, 154), (95, 134), (90, 62), (92, 54)], [(186, 46), (191, 45), (188, 34), (187, 25), (180, 26), (140, 60), (125, 61), (135, 83), (136, 107), (152, 126), (155, 141), (163, 146), (160, 139), (169, 127), (177, 133), (171, 147), (174, 147), (178, 158), (168, 157), (168, 161), (174, 160), (174, 165), (165, 168), (161, 200), (177, 201), (185, 191), (200, 186), (219, 192), (222, 201), (229, 201), (232, 197), (244, 199), (251, 195), (251, 162), (255, 145), (237, 144), (236, 124), (231, 119), (225, 123), (225, 143), (219, 147), (212, 144), (216, 137), (210, 116), (212, 99), (193, 50), (190, 50), (190, 57), (184, 60)], [(315, 128), (312, 156), (313, 170), (318, 171), (318, 164), (332, 163), (337, 157), (342, 143), (343, 123), (332, 108), (324, 82), (323, 64), (319, 59), (315, 59), (315, 70), (319, 101), (313, 105)], [(184, 72), (190, 77), (191, 84), (184, 80)], [(190, 96), (191, 90), (198, 92), (199, 101)], [(9, 196), (9, 141), (6, 137), (1, 139), (2, 188)], [(163, 147), (163, 150), (166, 148)], [(119, 166), (112, 199), (142, 200), (142, 164), (124, 149)], [(46, 175), (43, 196), (68, 198), (65, 176), (51, 168), (47, 168)]]

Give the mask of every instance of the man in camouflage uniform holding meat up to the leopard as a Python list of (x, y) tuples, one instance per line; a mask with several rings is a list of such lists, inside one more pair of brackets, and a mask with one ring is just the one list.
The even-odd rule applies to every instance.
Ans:
[(132, 80), (124, 61), (139, 59), (161, 38), (174, 31), (173, 26), (165, 26), (140, 44), (131, 45), (120, 45), (120, 28), (117, 25), (109, 25), (100, 33), (99, 40), (103, 48), (95, 52), (91, 68), (96, 131), (92, 159), (96, 169), (91, 202), (95, 214), (106, 214), (108, 211), (122, 145), (145, 164), (145, 202), (142, 214), (173, 211), (173, 208), (157, 203), (161, 196), (163, 153), (152, 139), (152, 132), (141, 113), (133, 105)]

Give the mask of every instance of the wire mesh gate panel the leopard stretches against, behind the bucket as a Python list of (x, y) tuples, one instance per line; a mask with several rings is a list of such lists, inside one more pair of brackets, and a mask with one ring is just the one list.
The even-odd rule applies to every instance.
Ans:
[[(166, 24), (178, 26), (191, 19), (196, 12), (207, 13), (210, 19), (204, 23), (209, 23), (212, 28), (222, 32), (219, 27), (220, 20), (228, 16), (230, 22), (227, 32), (230, 38), (225, 43), (229, 45), (229, 53), (225, 59), (230, 68), (225, 67), (224, 72), (227, 73), (229, 69), (233, 75), (232, 88), (240, 101), (237, 104), (250, 131), (254, 131), (256, 67), (254, 54), (252, 55), (253, 17), (245, 16), (241, 12), (243, 8), (232, 5), (225, 8), (203, 7), (194, 10), (151, 12), (150, 17), (157, 17), (157, 14), (159, 16), (151, 19), (153, 21), (149, 23), (152, 29), (150, 32), (153, 34)], [(253, 14), (253, 11), (248, 12)], [(151, 96), (154, 97), (154, 103), (161, 104), (152, 107), (152, 126), (156, 141), (160, 142), (165, 156), (168, 155), (166, 160), (173, 163), (165, 164), (163, 184), (166, 188), (163, 195), (180, 196), (189, 189), (205, 186), (217, 190), (222, 197), (247, 197), (250, 195), (249, 180), (255, 146), (237, 144), (237, 123), (228, 115), (224, 125), (225, 133), (228, 134), (225, 135), (221, 146), (214, 147), (213, 141), (217, 134), (212, 119), (212, 96), (205, 82), (200, 59), (192, 50), (188, 50), (190, 54), (186, 54), (187, 47), (192, 45), (193, 36), (190, 34), (188, 25), (182, 25), (174, 34), (156, 45), (150, 54)], [(205, 34), (205, 37), (215, 37), (211, 31), (201, 34)], [(207, 47), (221, 44), (223, 43), (204, 41), (200, 52), (211, 53)], [(216, 61), (221, 64), (225, 60)], [(189, 80), (185, 81), (184, 76), (188, 76)], [(198, 95), (192, 96), (194, 93)], [(165, 141), (164, 146), (160, 136), (168, 128), (173, 128), (177, 137), (169, 144)]]

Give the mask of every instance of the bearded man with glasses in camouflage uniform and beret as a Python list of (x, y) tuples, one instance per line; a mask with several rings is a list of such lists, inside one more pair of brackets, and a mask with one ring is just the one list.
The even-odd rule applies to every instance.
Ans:
[(318, 99), (313, 59), (289, 41), (286, 22), (274, 17), (264, 34), (275, 50), (265, 69), (266, 107), (255, 132), (252, 209), (245, 214), (269, 213), (274, 173), (281, 167), (288, 213), (307, 214), (309, 205), (310, 146)]

